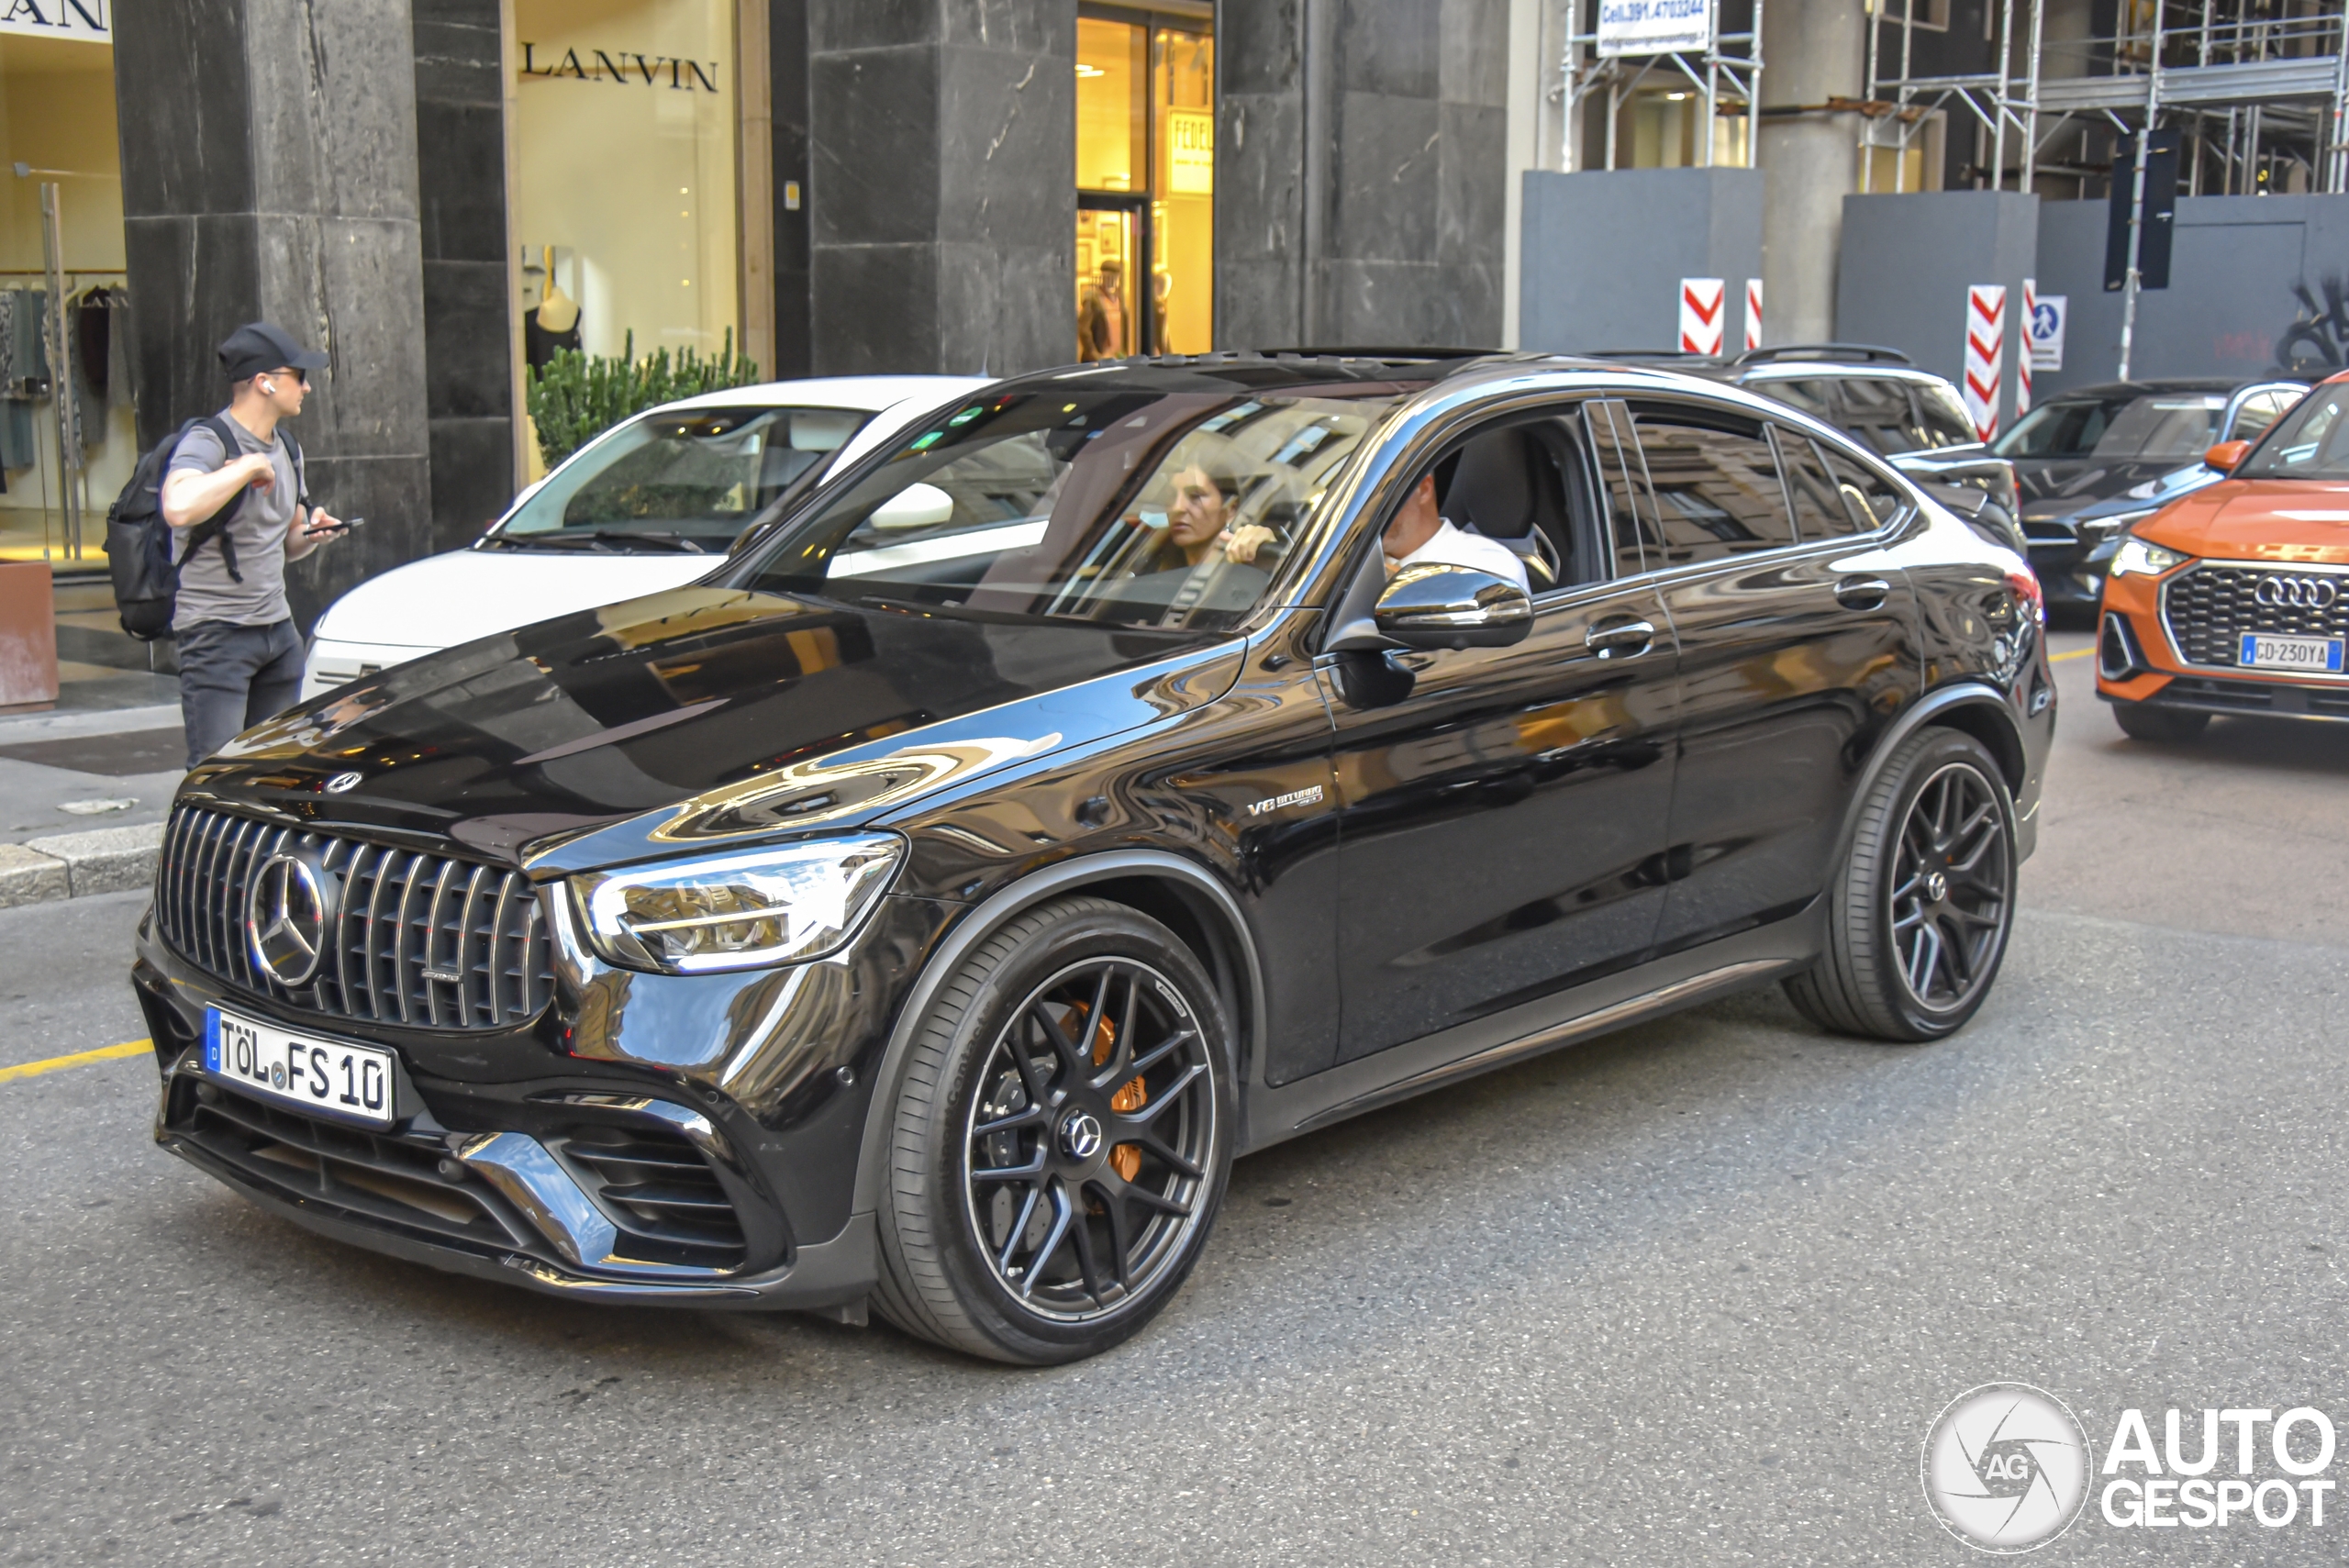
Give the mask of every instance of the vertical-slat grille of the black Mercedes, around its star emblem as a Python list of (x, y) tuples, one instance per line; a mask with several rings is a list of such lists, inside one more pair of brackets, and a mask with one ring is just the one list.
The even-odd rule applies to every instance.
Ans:
[[(244, 932), (254, 873), (287, 847), (310, 850), (341, 880), (334, 948), (301, 991), (254, 962)], [(519, 871), (228, 812), (171, 815), (155, 871), (155, 920), (164, 941), (204, 972), (343, 1019), (512, 1028), (554, 995), (545, 918)]]

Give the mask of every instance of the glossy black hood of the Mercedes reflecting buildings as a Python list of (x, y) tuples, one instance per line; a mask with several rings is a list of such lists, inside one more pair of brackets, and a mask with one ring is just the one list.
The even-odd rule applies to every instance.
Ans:
[(211, 800), (571, 871), (876, 822), (1212, 702), (1229, 636), (684, 587), (336, 688), (188, 775)]

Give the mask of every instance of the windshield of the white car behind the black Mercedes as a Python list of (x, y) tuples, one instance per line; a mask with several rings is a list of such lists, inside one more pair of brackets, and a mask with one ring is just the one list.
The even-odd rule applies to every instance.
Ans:
[(867, 420), (862, 408), (653, 411), (557, 467), (484, 542), (726, 554)]

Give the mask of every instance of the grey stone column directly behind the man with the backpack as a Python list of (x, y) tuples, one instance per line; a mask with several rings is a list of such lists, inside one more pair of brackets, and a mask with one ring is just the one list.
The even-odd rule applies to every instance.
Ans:
[(240, 322), (331, 357), (294, 432), (366, 528), (289, 573), (308, 627), (432, 545), (409, 0), (122, 0), (115, 99), (141, 444), (228, 401)]

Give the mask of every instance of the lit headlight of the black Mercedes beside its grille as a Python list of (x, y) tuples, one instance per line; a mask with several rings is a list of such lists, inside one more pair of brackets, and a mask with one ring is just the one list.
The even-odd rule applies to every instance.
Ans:
[(902, 857), (895, 833), (853, 833), (592, 871), (571, 887), (606, 962), (707, 974), (839, 951), (888, 892)]

